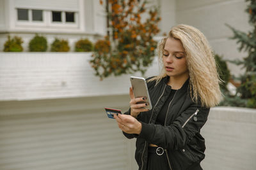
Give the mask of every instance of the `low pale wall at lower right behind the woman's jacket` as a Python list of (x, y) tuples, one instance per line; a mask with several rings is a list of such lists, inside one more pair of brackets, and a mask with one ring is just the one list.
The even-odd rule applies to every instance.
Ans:
[(256, 110), (212, 108), (202, 128), (207, 170), (256, 169)]

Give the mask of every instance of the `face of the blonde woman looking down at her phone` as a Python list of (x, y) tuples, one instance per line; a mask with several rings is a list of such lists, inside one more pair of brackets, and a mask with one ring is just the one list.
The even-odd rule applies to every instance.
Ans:
[(165, 73), (173, 78), (188, 78), (188, 67), (185, 50), (180, 40), (166, 39), (163, 50), (163, 64)]

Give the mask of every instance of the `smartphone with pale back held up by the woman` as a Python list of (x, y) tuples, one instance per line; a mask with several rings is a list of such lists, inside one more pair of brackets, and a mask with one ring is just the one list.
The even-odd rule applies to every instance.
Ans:
[(131, 76), (130, 80), (131, 80), (134, 97), (135, 98), (146, 97), (146, 101), (145, 102), (143, 101), (140, 103), (147, 103), (148, 106), (145, 106), (143, 108), (151, 110), (152, 105), (151, 105), (150, 97), (148, 94), (148, 87), (147, 87), (147, 82), (146, 82), (145, 78)]

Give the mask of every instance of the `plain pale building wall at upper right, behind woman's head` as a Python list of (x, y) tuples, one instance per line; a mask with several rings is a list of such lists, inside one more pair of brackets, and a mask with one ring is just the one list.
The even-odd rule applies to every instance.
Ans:
[[(223, 55), (224, 59), (242, 59), (246, 53), (239, 53), (236, 40), (228, 39), (232, 31), (225, 25), (229, 24), (240, 31), (250, 30), (248, 15), (244, 11), (247, 4), (244, 0), (179, 0), (176, 9), (177, 24), (189, 24), (202, 31), (214, 52)], [(234, 64), (228, 67), (234, 74), (239, 74)]]

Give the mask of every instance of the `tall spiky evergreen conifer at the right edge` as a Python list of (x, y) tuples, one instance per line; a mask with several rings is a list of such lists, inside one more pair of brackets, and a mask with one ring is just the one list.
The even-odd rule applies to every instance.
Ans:
[(246, 0), (246, 2), (248, 2), (246, 12), (249, 14), (252, 30), (243, 32), (228, 25), (234, 33), (232, 39), (236, 39), (239, 44), (239, 51), (247, 53), (243, 60), (232, 61), (245, 69), (244, 73), (238, 77), (241, 85), (237, 88), (236, 96), (232, 96), (232, 102), (236, 102), (236, 106), (256, 108), (256, 1)]

